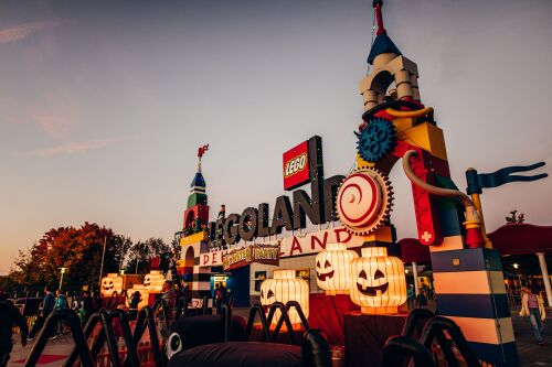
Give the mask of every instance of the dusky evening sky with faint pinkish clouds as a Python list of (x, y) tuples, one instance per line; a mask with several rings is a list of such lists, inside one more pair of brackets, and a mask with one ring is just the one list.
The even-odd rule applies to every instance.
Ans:
[[(282, 153), (322, 137), (326, 175), (354, 163), (369, 0), (0, 2), (0, 273), (52, 227), (95, 222), (135, 241), (181, 229), (197, 151), (214, 216), (284, 194)], [(453, 179), (539, 161), (552, 173), (552, 2), (388, 0), (418, 65)], [(415, 237), (400, 169), (392, 220)], [(552, 225), (552, 177), (482, 195)]]

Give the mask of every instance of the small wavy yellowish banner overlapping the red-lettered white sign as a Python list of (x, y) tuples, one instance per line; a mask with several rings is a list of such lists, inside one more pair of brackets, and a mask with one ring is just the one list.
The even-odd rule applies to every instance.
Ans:
[(224, 271), (245, 267), (253, 262), (277, 267), (279, 265), (279, 246), (247, 245), (222, 256)]

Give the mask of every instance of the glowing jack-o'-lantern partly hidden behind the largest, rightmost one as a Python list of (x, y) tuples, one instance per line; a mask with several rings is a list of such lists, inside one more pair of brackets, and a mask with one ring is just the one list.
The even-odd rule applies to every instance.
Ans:
[(349, 294), (351, 260), (359, 255), (348, 250), (344, 244), (328, 244), (316, 256), (316, 282), (326, 294)]

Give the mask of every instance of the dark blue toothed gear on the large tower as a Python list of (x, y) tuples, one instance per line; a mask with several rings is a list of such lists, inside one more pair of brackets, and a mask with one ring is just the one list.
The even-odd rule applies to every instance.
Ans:
[(367, 162), (375, 163), (395, 148), (395, 127), (390, 120), (380, 117), (370, 119), (367, 127), (355, 134), (359, 138), (357, 150)]

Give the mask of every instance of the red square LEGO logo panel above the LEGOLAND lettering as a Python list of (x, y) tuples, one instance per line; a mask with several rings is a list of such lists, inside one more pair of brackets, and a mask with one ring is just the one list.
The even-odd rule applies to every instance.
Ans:
[(284, 190), (293, 190), (310, 181), (308, 142), (284, 153)]

